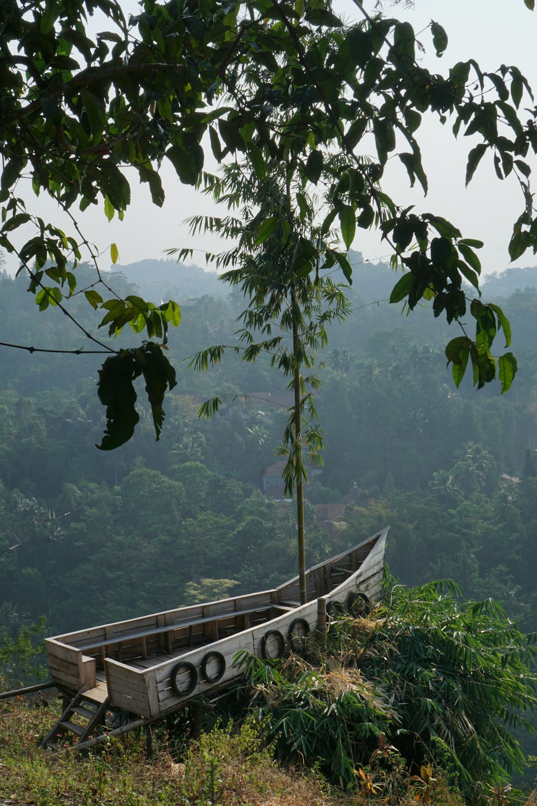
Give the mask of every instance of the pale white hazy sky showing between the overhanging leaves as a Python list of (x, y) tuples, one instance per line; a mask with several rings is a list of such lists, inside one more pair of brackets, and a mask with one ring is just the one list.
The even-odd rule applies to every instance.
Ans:
[[(374, 2), (368, 0), (365, 6), (372, 10)], [(125, 8), (136, 12), (131, 0), (125, 2)], [(345, 19), (360, 19), (360, 11), (352, 0), (333, 0), (333, 9)], [(389, 12), (388, 8), (386, 13)], [(403, 6), (397, 6), (391, 13), (408, 19), (416, 32), (425, 29), (431, 19), (444, 26), (449, 44), (441, 59), (435, 56), (430, 31), (423, 30), (419, 35), (426, 48), (423, 64), (432, 72), (447, 73), (452, 64), (469, 58), (476, 59), (484, 72), (492, 72), (502, 63), (516, 64), (537, 94), (537, 12), (529, 11), (523, 0), (416, 0), (415, 9), (405, 10)], [(522, 106), (531, 106), (526, 95)], [(466, 156), (480, 138), (459, 135), (455, 140), (451, 125), (448, 121), (442, 127), (436, 119), (429, 121), (424, 117), (416, 133), (422, 147), (423, 167), (429, 178), (428, 197), (423, 198), (421, 189), (409, 189), (407, 172), (397, 157), (390, 160), (386, 168), (383, 180), (386, 191), (395, 202), (404, 206), (414, 204), (417, 213), (443, 215), (459, 226), (465, 237), (484, 241), (485, 247), (480, 254), (483, 271), (502, 271), (509, 265), (507, 244), (512, 224), (523, 209), (518, 183), (514, 177), (499, 181), (494, 174), (492, 156), (486, 154), (469, 188), (465, 189)], [(212, 160), (209, 144), (205, 153), (205, 167), (215, 170), (217, 166)], [(537, 168), (537, 160), (533, 158), (532, 161)], [(193, 262), (204, 265), (204, 251), (223, 248), (218, 239), (192, 240), (183, 224), (188, 215), (210, 212), (210, 202), (206, 197), (187, 185), (181, 185), (167, 164), (163, 164), (162, 177), (166, 192), (162, 209), (152, 204), (147, 185), (138, 185), (137, 177), (133, 176), (132, 202), (123, 222), (117, 218), (107, 222), (103, 206), (91, 207), (84, 214), (77, 215), (85, 236), (103, 253), (101, 268), (109, 267), (110, 243), (117, 244), (122, 264), (163, 257), (163, 250), (167, 247), (195, 247), (199, 252), (197, 257), (195, 253)], [(18, 192), (26, 197), (29, 210), (69, 231), (68, 222), (53, 202), (44, 197), (36, 200), (29, 186), (25, 193), (19, 184)], [(77, 210), (73, 212), (78, 213)], [(31, 235), (28, 231), (24, 239)], [(357, 231), (353, 249), (362, 251), (366, 259), (373, 261), (386, 259), (389, 255), (386, 245), (380, 243), (378, 235), (373, 232)], [(16, 259), (11, 256), (7, 256), (7, 263), (11, 272), (18, 268)], [(537, 257), (531, 252), (517, 262), (522, 266), (535, 264)]]

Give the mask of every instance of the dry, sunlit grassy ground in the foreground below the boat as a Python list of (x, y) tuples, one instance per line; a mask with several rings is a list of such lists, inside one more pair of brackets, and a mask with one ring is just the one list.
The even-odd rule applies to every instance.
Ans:
[[(180, 762), (167, 751), (147, 760), (129, 735), (84, 756), (39, 749), (58, 713), (25, 701), (0, 702), (0, 806), (336, 806), (313, 775), (279, 769), (250, 726), (217, 729), (192, 742)], [(67, 745), (68, 742), (65, 742)]]

